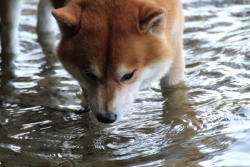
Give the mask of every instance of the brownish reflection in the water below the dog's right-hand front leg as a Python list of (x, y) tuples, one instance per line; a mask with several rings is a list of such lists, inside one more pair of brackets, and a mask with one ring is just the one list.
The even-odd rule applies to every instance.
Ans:
[(181, 126), (183, 137), (192, 137), (202, 127), (202, 121), (197, 118), (192, 102), (188, 96), (188, 87), (184, 84), (165, 89), (162, 92), (166, 99), (163, 104), (163, 122), (171, 125), (171, 130)]

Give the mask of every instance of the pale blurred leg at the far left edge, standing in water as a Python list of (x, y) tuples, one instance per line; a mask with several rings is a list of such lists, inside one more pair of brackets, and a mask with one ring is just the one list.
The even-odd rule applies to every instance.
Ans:
[[(1, 44), (2, 53), (8, 55), (8, 59), (17, 55), (18, 47), (18, 24), (23, 0), (0, 0), (1, 5)], [(6, 57), (5, 57), (6, 58)]]

